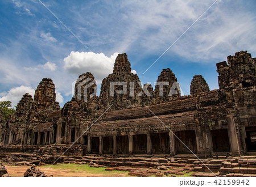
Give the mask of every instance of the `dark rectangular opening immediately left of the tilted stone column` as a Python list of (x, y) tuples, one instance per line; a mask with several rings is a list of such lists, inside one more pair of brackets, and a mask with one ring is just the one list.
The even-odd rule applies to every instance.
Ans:
[(228, 129), (211, 130), (213, 152), (230, 152)]

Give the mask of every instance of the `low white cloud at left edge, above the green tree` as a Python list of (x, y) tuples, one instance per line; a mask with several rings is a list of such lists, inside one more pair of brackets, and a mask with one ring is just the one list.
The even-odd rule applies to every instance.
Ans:
[(0, 101), (11, 101), (11, 105), (14, 107), (26, 93), (34, 96), (35, 90), (28, 86), (14, 87), (11, 88), (4, 96), (0, 97)]

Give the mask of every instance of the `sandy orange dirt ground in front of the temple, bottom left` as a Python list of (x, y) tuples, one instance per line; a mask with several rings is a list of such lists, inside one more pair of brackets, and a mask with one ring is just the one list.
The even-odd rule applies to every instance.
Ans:
[[(5, 165), (7, 172), (12, 177), (23, 177), (24, 172), (30, 168), (29, 166), (13, 166)], [(48, 167), (36, 167), (44, 172)], [(76, 171), (75, 169), (49, 168), (46, 172), (47, 176), (53, 177), (127, 177), (127, 173), (113, 173), (104, 171), (102, 173), (90, 173), (86, 171)]]

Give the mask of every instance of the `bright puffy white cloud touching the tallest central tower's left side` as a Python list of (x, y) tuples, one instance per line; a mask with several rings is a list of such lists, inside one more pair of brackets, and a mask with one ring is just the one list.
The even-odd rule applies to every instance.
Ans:
[(117, 55), (118, 53), (114, 53), (107, 57), (104, 53), (72, 51), (68, 57), (64, 58), (64, 69), (76, 76), (89, 71), (96, 80), (102, 80), (113, 72)]

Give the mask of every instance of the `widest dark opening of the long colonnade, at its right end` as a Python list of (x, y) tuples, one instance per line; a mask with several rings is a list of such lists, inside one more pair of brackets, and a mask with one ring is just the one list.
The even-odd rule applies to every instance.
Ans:
[[(176, 131), (175, 135), (194, 153), (197, 153), (195, 130)], [(175, 151), (177, 154), (192, 154), (187, 147), (175, 137)]]

